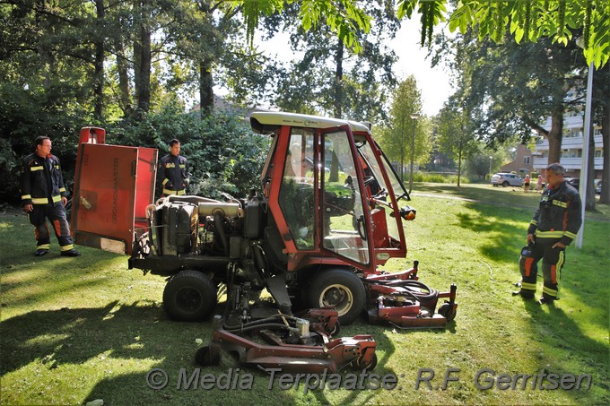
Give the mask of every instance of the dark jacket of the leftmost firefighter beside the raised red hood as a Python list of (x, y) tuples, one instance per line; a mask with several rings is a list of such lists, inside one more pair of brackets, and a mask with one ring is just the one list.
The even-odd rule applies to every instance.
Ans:
[(68, 197), (61, 174), (59, 159), (51, 154), (47, 158), (32, 153), (22, 160), (22, 205), (61, 203)]

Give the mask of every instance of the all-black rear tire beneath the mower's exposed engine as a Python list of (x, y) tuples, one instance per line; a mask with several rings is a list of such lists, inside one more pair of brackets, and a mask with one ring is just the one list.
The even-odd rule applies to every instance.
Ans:
[(181, 271), (163, 290), (163, 306), (170, 318), (180, 322), (199, 322), (216, 307), (216, 287), (201, 272)]

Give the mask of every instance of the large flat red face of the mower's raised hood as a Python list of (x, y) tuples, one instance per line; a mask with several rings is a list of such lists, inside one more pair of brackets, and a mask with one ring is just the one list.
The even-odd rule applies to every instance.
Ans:
[(112, 242), (120, 241), (131, 252), (137, 162), (135, 147), (80, 145), (72, 212), (76, 244), (118, 251)]

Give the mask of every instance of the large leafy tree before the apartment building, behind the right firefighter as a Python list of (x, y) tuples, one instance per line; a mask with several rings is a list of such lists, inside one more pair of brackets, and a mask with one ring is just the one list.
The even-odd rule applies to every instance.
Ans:
[[(519, 134), (527, 142), (536, 131), (548, 139), (549, 162), (558, 162), (563, 114), (583, 102), (583, 94), (574, 90), (582, 89), (585, 64), (574, 41), (569, 47), (549, 39), (498, 46), (466, 33), (457, 37), (453, 49), (458, 93), (472, 112), (479, 137), (494, 144)], [(549, 116), (547, 130), (542, 123)]]

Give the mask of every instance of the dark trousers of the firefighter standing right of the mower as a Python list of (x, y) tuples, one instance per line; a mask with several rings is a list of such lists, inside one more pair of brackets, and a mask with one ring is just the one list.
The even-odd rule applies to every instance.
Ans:
[(522, 277), (522, 296), (534, 297), (538, 262), (542, 259), (542, 274), (545, 280), (542, 297), (558, 298), (557, 283), (560, 279), (563, 263), (565, 263), (565, 248), (553, 248), (553, 244), (559, 241), (559, 238), (536, 238), (536, 244), (532, 246), (532, 254), (529, 257), (521, 255), (519, 269)]

